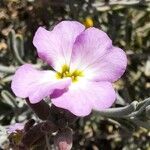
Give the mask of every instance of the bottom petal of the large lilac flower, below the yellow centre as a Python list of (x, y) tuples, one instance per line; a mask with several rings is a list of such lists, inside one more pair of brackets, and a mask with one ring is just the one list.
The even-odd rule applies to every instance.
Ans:
[(80, 81), (72, 84), (60, 97), (52, 98), (52, 103), (76, 116), (86, 116), (92, 109), (110, 107), (115, 98), (115, 91), (109, 82)]

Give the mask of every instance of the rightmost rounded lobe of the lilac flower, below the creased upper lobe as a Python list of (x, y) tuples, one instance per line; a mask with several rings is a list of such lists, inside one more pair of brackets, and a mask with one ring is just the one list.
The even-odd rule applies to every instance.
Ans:
[(90, 80), (114, 82), (123, 75), (126, 66), (125, 52), (120, 48), (113, 47), (109, 53), (89, 65), (84, 73)]

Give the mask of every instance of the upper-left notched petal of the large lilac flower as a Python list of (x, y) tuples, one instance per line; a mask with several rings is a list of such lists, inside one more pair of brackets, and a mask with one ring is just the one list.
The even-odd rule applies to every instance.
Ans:
[(64, 64), (69, 64), (73, 43), (85, 27), (76, 21), (62, 21), (52, 31), (38, 28), (33, 44), (38, 55), (55, 70), (59, 71)]

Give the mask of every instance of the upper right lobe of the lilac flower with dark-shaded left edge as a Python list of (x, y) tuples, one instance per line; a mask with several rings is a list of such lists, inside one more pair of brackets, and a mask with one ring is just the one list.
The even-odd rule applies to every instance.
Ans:
[(111, 47), (112, 41), (105, 32), (94, 27), (86, 29), (74, 43), (71, 69), (84, 70), (90, 64), (102, 58)]

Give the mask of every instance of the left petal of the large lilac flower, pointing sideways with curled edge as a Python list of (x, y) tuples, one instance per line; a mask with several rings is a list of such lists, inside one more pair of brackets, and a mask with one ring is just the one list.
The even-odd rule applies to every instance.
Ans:
[(29, 97), (31, 103), (37, 103), (50, 96), (55, 89), (65, 89), (70, 84), (70, 78), (57, 80), (54, 71), (40, 71), (25, 64), (16, 71), (11, 88), (16, 96)]

